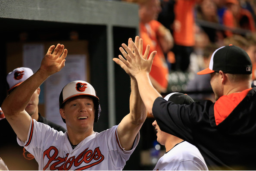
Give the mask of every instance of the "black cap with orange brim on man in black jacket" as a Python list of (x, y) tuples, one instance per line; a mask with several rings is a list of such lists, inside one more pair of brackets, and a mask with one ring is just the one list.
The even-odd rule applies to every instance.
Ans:
[(219, 72), (229, 74), (251, 74), (252, 62), (248, 54), (240, 47), (230, 44), (229, 46), (220, 47), (212, 53), (209, 68), (206, 68), (198, 75)]

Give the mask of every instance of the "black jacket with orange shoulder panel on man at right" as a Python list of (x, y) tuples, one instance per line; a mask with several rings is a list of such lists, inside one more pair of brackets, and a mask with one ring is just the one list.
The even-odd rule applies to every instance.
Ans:
[(197, 146), (209, 170), (256, 170), (256, 88), (233, 94), (190, 105), (158, 97), (153, 115), (162, 131)]

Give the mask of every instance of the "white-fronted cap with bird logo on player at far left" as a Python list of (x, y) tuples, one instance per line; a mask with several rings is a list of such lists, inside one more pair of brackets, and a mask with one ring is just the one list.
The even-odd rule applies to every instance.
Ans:
[(6, 77), (7, 83), (9, 85), (9, 90), (17, 87), (19, 84), (22, 84), (23, 81), (28, 79), (31, 75), (33, 75), (33, 71), (30, 68), (20, 67), (14, 69), (12, 72)]

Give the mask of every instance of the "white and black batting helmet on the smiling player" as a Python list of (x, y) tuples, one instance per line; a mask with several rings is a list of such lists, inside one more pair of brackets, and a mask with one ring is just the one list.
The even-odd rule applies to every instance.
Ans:
[[(94, 121), (97, 122), (101, 112), (100, 99), (96, 96), (94, 87), (92, 87), (92, 85), (86, 81), (72, 81), (63, 87), (59, 95), (59, 108), (61, 108), (62, 104), (64, 104), (68, 99), (81, 95), (91, 96), (91, 98), (94, 100), (94, 106), (96, 109)], [(66, 122), (65, 120), (63, 121)]]

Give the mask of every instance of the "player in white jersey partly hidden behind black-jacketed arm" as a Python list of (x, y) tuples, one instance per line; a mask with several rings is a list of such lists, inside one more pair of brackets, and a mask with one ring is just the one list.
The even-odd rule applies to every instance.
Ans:
[[(170, 93), (164, 98), (175, 104), (190, 104), (194, 100), (183, 93)], [(208, 170), (206, 162), (196, 146), (172, 134), (162, 131), (157, 122), (157, 141), (165, 146), (165, 154), (158, 160), (153, 170), (159, 171), (205, 171)]]

